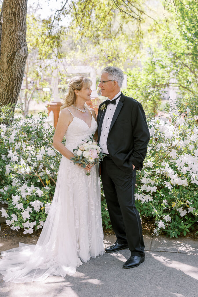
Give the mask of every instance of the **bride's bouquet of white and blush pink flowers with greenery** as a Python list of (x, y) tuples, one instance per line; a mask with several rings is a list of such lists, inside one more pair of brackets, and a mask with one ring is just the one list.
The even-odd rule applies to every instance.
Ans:
[[(104, 159), (106, 156), (101, 152), (100, 146), (94, 141), (94, 135), (92, 134), (93, 138), (89, 137), (90, 139), (86, 139), (83, 141), (77, 149), (73, 149), (74, 157), (70, 158), (74, 162), (74, 164), (80, 164), (82, 168), (85, 168), (86, 165), (99, 165), (100, 161)], [(91, 175), (90, 172), (87, 172), (87, 175)]]

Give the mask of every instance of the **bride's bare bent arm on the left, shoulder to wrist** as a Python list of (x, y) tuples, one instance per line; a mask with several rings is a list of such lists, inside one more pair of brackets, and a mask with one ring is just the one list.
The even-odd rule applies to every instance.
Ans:
[(53, 146), (67, 159), (74, 157), (74, 154), (64, 146), (62, 140), (72, 120), (72, 115), (69, 110), (63, 109), (59, 115), (53, 138)]

